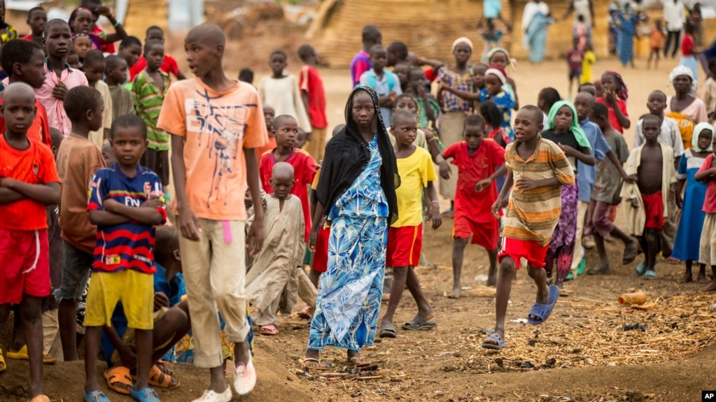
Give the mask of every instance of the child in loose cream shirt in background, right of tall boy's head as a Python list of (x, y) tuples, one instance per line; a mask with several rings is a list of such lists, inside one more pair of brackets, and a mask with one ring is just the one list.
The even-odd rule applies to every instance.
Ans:
[(304, 100), (299, 91), (299, 80), (294, 75), (284, 74), (287, 66), (286, 53), (281, 50), (271, 53), (269, 67), (272, 74), (263, 77), (258, 83), (258, 96), (261, 98), (261, 104), (270, 104), (274, 108), (276, 116), (287, 114), (294, 117), (299, 127), (309, 133), (311, 120), (306, 113)]

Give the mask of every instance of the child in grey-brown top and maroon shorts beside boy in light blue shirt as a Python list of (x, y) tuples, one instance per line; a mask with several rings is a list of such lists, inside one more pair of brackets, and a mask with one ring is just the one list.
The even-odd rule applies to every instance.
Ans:
[[(609, 144), (611, 152), (614, 152), (619, 162), (627, 162), (629, 148), (624, 142), (624, 137), (609, 124), (609, 109), (604, 104), (594, 104), (591, 112), (591, 120), (596, 123), (604, 134), (604, 139)], [(637, 257), (637, 242), (627, 235), (614, 222), (609, 220), (609, 208), (621, 202), (619, 188), (621, 180), (634, 182), (634, 177), (621, 177), (618, 167), (613, 162), (602, 160), (596, 166), (594, 190), (591, 192), (591, 200), (586, 211), (584, 222), (584, 235), (594, 235), (594, 245), (599, 253), (599, 265), (587, 271), (589, 275), (609, 273), (609, 258), (606, 255), (604, 239), (611, 235), (624, 242), (624, 256), (622, 265), (627, 265)]]

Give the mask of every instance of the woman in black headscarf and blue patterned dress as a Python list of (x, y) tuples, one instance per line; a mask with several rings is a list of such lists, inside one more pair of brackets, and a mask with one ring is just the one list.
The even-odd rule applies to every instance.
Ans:
[(316, 188), (309, 250), (319, 222), (331, 227), (328, 267), (319, 282), (311, 320), (306, 367), (320, 365), (326, 346), (347, 350), (347, 363), (363, 366), (359, 350), (373, 345), (383, 290), (387, 230), (397, 219), (395, 153), (378, 96), (357, 87), (346, 104), (346, 127), (326, 144)]

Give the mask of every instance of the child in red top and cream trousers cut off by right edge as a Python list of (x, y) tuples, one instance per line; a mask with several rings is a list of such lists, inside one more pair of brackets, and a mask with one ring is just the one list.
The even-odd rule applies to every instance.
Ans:
[[(716, 139), (716, 135), (714, 135)], [(715, 153), (709, 155), (694, 179), (706, 183), (703, 211), (706, 212), (701, 230), (699, 263), (711, 265), (712, 280), (705, 292), (716, 290), (716, 140), (712, 143)]]

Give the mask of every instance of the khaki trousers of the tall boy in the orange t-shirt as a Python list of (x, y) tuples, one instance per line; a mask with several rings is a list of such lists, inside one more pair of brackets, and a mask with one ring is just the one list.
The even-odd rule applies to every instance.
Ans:
[(229, 341), (243, 342), (251, 329), (246, 320), (245, 225), (243, 221), (228, 221), (232, 240), (227, 243), (223, 222), (200, 218), (198, 242), (179, 238), (195, 343), (194, 364), (201, 368), (223, 363), (218, 312), (226, 323)]

